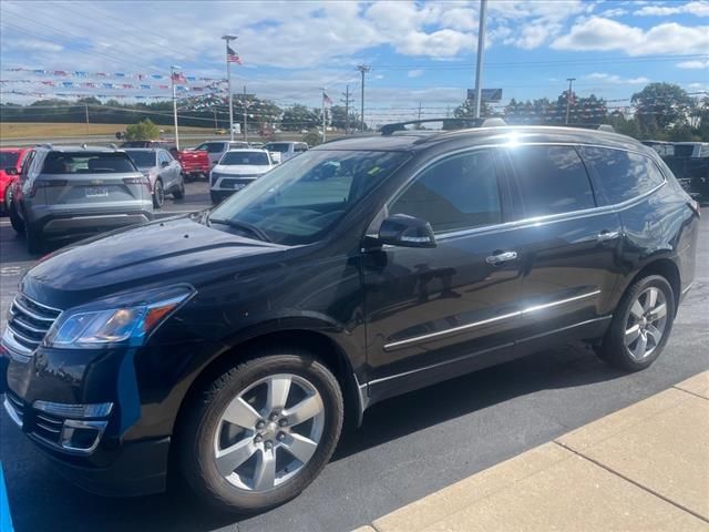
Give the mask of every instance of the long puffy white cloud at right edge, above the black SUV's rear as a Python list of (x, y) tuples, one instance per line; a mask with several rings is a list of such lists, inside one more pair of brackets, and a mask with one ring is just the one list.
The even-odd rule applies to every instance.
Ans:
[(668, 22), (643, 30), (615, 20), (593, 17), (574, 24), (552, 42), (555, 50), (621, 51), (628, 55), (706, 53), (709, 27), (686, 27)]

